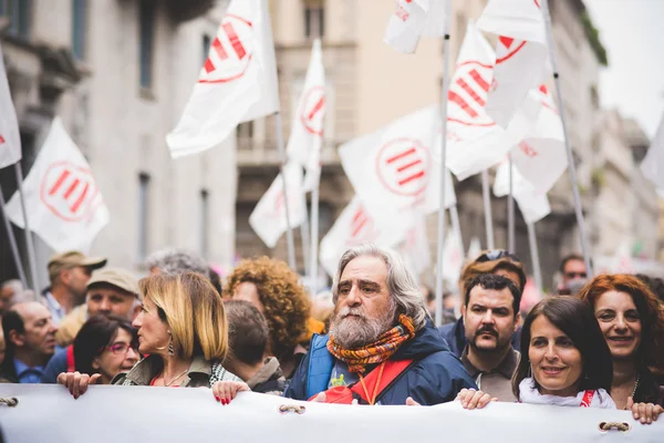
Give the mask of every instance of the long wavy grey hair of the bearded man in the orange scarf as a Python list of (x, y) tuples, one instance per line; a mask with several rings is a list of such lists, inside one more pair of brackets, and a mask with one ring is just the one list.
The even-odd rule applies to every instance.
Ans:
[(416, 331), (424, 328), (429, 313), (426, 309), (424, 297), (422, 297), (415, 281), (415, 277), (406, 267), (401, 255), (391, 249), (380, 248), (373, 243), (355, 246), (346, 250), (341, 257), (332, 284), (332, 299), (334, 303), (336, 305), (339, 298), (339, 280), (343, 270), (353, 259), (363, 256), (377, 257), (385, 262), (387, 266), (387, 290), (396, 302), (396, 312), (411, 317)]

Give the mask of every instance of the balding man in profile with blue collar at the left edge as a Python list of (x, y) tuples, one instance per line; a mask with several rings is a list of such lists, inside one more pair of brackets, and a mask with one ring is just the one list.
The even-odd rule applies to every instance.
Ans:
[(39, 383), (44, 367), (55, 351), (55, 332), (51, 312), (40, 302), (12, 306), (2, 317), (7, 342), (0, 375), (12, 383)]

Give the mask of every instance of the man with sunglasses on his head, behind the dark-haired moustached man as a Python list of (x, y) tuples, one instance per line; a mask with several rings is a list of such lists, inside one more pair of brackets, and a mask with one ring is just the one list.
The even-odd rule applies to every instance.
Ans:
[[(494, 249), (484, 251), (474, 261), (464, 267), (459, 278), (460, 293), (466, 293), (466, 288), (470, 282), (484, 274), (507, 277), (521, 292), (523, 292), (523, 288), (526, 287), (526, 272), (519, 257), (504, 249)], [(464, 302), (464, 305), (466, 303)], [(440, 331), (440, 336), (447, 341), (450, 351), (460, 358), (467, 346), (464, 318), (459, 318), (454, 323), (444, 324), (438, 330)], [(520, 349), (519, 332), (512, 336), (511, 344), (515, 350), (518, 351)]]

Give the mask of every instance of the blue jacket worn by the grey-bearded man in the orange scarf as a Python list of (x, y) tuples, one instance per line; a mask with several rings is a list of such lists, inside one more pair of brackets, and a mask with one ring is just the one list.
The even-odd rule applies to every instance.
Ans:
[[(309, 353), (302, 359), (283, 396), (309, 400), (328, 389), (334, 357), (328, 351), (329, 336), (314, 334)], [(461, 364), (450, 352), (438, 330), (430, 323), (403, 343), (394, 360), (414, 360), (376, 400), (381, 404), (405, 404), (406, 399), (421, 404), (438, 404), (455, 399), (463, 388), (477, 388)]]

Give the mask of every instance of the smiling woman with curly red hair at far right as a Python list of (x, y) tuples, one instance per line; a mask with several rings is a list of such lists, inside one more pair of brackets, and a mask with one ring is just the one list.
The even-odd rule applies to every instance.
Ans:
[[(619, 409), (633, 403), (664, 406), (664, 306), (637, 277), (602, 275), (588, 282), (579, 297), (594, 316), (613, 359), (611, 396)], [(645, 406), (644, 406), (645, 408)]]

